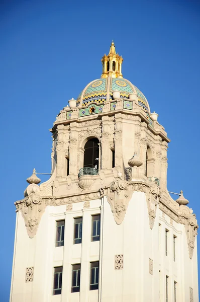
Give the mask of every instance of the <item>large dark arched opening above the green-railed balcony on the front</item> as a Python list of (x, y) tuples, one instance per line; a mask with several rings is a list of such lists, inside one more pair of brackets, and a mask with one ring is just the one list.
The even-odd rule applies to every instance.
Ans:
[(97, 138), (91, 138), (85, 143), (83, 168), (88, 167), (88, 168), (98, 169), (98, 162), (99, 162), (98, 143), (99, 141)]

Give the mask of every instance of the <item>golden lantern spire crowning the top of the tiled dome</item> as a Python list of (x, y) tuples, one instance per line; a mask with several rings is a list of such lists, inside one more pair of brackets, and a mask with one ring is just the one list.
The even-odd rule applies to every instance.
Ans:
[(108, 55), (102, 58), (103, 73), (101, 78), (123, 78), (122, 76), (122, 61), (123, 58), (116, 54), (114, 41), (111, 43)]

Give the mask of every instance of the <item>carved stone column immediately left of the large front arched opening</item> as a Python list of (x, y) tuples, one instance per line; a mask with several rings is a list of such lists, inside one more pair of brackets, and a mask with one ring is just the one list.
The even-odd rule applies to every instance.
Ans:
[(70, 123), (70, 139), (69, 139), (69, 175), (77, 174), (77, 123)]

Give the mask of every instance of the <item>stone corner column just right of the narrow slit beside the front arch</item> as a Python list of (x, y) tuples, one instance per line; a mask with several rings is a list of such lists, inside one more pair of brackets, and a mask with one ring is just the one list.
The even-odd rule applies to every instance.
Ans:
[[(122, 148), (122, 114), (117, 113), (115, 115), (115, 167), (123, 170), (123, 148)], [(123, 171), (121, 171), (123, 172)]]

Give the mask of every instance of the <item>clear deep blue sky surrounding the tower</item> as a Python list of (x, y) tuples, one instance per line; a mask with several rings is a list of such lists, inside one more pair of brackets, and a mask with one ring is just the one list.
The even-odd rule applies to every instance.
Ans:
[(48, 129), (101, 76), (112, 39), (124, 78), (144, 93), (171, 139), (168, 190), (182, 189), (200, 217), (199, 17), (199, 2), (190, 0), (0, 2), (2, 302), (10, 295), (14, 202), (33, 168), (51, 172)]

